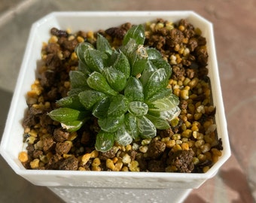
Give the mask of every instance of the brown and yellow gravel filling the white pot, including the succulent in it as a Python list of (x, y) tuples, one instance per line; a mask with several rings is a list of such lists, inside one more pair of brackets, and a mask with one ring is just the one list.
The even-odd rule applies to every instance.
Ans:
[(218, 161), (200, 29), (157, 19), (49, 32), (26, 97), (25, 168), (203, 173)]

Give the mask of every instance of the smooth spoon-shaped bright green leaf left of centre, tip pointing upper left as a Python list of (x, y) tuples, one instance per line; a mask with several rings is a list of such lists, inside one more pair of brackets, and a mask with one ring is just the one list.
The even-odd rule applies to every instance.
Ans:
[(95, 89), (98, 92), (103, 92), (107, 95), (117, 95), (117, 92), (108, 85), (105, 77), (98, 72), (93, 72), (90, 74), (90, 76), (87, 78), (87, 83), (90, 88)]

